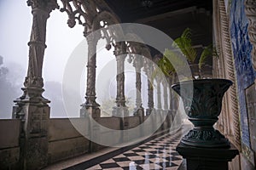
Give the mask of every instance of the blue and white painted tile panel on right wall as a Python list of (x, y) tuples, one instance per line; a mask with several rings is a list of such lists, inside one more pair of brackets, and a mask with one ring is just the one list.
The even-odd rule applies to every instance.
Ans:
[(245, 89), (253, 84), (256, 71), (253, 71), (251, 61), (252, 45), (248, 38), (248, 20), (244, 11), (244, 0), (232, 0), (230, 3), (230, 37), (241, 112), (241, 142), (250, 148)]

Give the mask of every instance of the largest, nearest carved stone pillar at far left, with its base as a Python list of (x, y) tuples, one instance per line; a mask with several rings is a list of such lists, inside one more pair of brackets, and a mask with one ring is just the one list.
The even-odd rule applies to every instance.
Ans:
[(29, 63), (23, 95), (15, 100), (14, 118), (22, 121), (20, 132), (20, 168), (41, 169), (48, 163), (49, 100), (42, 96), (46, 22), (58, 4), (55, 0), (28, 0), (32, 7), (32, 32), (29, 46)]

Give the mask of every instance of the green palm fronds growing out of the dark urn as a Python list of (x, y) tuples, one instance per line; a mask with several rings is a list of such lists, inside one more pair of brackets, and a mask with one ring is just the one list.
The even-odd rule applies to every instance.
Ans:
[[(196, 58), (199, 56), (197, 50), (192, 46), (192, 32), (189, 28), (186, 28), (181, 37), (177, 37), (172, 43), (172, 47), (179, 48), (184, 54), (186, 59), (189, 62), (189, 65), (194, 65), (197, 67), (197, 70), (200, 72), (202, 65), (204, 65), (207, 59), (212, 58), (213, 55), (218, 56), (215, 48), (212, 47), (212, 44), (208, 45), (200, 54), (199, 62), (196, 63)], [(172, 63), (170, 62), (172, 60)], [(172, 73), (175, 73), (173, 65), (183, 65), (183, 60), (180, 59), (177, 54), (170, 49), (166, 49), (163, 57), (158, 61), (158, 66), (160, 70), (167, 76), (170, 77)], [(182, 69), (182, 68), (181, 68)], [(195, 74), (195, 71), (192, 71), (192, 77), (201, 78), (201, 75)]]

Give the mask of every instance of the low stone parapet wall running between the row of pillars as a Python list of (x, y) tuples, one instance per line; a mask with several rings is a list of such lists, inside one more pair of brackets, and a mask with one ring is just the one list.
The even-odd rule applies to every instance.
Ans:
[[(171, 124), (171, 120), (167, 116), (163, 126), (159, 128), (166, 130)], [(145, 120), (148, 116), (144, 117)], [(125, 117), (127, 129), (137, 127), (141, 123), (139, 116)], [(148, 120), (150, 121), (150, 120)], [(120, 135), (119, 131), (124, 129), (121, 117), (99, 117), (96, 122), (104, 128), (92, 127), (89, 118), (53, 118), (49, 119), (48, 127), (48, 164), (61, 161), (74, 156), (95, 152), (101, 150), (103, 145), (95, 144), (85, 137), (94, 133), (99, 133), (100, 141), (111, 140), (113, 144), (120, 144), (125, 139), (133, 139), (134, 136), (143, 133), (129, 133), (128, 138)], [(153, 123), (149, 123), (148, 127), (152, 128)], [(77, 129), (76, 127), (79, 126)], [(81, 130), (83, 129), (83, 130)], [(116, 131), (113, 131), (113, 130)], [(20, 119), (0, 120), (0, 167), (1, 169), (20, 169), (20, 160), (22, 155), (20, 152), (20, 135), (21, 121)], [(85, 136), (85, 137), (84, 137)]]

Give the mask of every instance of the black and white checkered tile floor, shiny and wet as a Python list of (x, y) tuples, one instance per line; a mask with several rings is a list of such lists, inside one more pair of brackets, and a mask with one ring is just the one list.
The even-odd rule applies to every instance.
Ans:
[(179, 156), (175, 150), (180, 138), (181, 135), (177, 133), (165, 134), (86, 169), (175, 170), (183, 161), (182, 156)]

